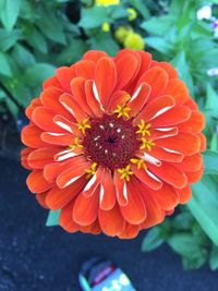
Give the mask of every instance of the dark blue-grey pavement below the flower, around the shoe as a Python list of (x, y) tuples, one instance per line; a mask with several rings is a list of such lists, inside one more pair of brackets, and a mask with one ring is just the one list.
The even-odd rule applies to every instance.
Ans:
[(19, 161), (0, 157), (0, 291), (81, 291), (77, 274), (92, 256), (114, 260), (137, 291), (217, 291), (218, 274), (206, 266), (183, 271), (166, 245), (143, 254), (137, 239), (69, 234), (46, 228), (47, 211), (25, 185)]

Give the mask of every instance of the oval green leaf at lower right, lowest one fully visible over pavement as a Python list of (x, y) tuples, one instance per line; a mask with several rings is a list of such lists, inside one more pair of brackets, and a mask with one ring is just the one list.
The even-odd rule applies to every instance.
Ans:
[(201, 251), (197, 241), (190, 233), (173, 234), (168, 239), (168, 243), (175, 253), (182, 256), (192, 257), (193, 254)]

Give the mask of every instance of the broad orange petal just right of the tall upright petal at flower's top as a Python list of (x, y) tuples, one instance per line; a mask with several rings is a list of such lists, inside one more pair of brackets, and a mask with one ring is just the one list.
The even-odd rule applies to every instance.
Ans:
[(125, 53), (118, 60), (116, 60), (117, 66), (117, 86), (116, 90), (123, 89), (125, 85), (135, 76), (138, 71), (138, 59), (132, 53)]

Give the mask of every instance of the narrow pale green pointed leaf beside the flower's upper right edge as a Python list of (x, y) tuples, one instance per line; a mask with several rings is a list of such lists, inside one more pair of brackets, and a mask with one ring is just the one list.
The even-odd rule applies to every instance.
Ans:
[(170, 62), (179, 72), (180, 77), (187, 85), (191, 95), (194, 95), (194, 85), (184, 51), (179, 52)]

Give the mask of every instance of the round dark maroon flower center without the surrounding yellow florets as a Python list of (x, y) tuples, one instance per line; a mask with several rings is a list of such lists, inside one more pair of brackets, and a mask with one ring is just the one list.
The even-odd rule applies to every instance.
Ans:
[(141, 145), (132, 121), (104, 114), (89, 124), (82, 141), (86, 157), (110, 170), (126, 167)]

